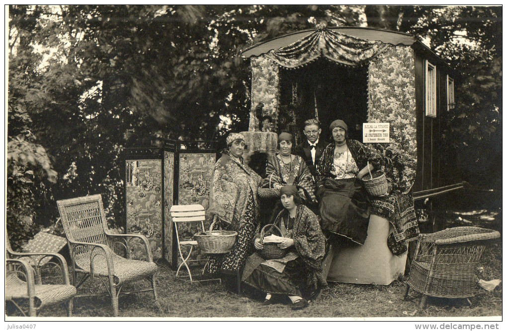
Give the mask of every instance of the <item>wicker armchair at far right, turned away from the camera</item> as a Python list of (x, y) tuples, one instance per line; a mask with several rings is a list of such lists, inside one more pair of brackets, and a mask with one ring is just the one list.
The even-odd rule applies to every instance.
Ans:
[(472, 226), (421, 234), (410, 268), (405, 298), (412, 287), (423, 295), (420, 308), (424, 309), (428, 297), (474, 296), (477, 289), (475, 274), (485, 241), (499, 237), (498, 231)]

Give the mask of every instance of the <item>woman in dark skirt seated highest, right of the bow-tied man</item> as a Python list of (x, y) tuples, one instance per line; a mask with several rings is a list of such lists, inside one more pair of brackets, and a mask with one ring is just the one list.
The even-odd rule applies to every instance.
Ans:
[[(321, 227), (334, 247), (340, 243), (365, 242), (371, 204), (362, 179), (369, 170), (381, 169), (383, 158), (357, 140), (347, 138), (343, 120), (329, 127), (334, 142), (329, 144), (317, 163), (317, 198)], [(334, 250), (324, 261), (323, 273), (328, 275)]]

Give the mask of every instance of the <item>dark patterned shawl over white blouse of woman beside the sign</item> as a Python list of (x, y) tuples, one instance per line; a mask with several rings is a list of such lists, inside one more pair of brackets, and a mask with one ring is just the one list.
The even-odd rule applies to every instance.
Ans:
[[(359, 171), (367, 166), (367, 162), (370, 162), (370, 164), (375, 167), (373, 175), (376, 177), (376, 173), (381, 171), (383, 168), (384, 159), (382, 155), (377, 153), (374, 149), (361, 144), (357, 140), (347, 139), (347, 146), (350, 150), (350, 154), (352, 154), (352, 157), (354, 158), (355, 164), (357, 164), (357, 168), (359, 168)], [(335, 176), (330, 173), (330, 171), (333, 170), (334, 154), (335, 143), (333, 142), (324, 149), (318, 162), (316, 162), (318, 172), (316, 179), (317, 183), (325, 177), (335, 178)]]

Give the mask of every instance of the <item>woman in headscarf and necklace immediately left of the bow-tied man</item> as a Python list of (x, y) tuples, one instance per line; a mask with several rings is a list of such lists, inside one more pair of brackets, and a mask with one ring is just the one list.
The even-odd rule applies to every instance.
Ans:
[(269, 188), (271, 185), (271, 188), (279, 189), (283, 185), (296, 185), (305, 203), (314, 203), (315, 192), (312, 174), (301, 156), (291, 154), (291, 134), (282, 132), (278, 136), (278, 149), (280, 153), (268, 159), (266, 178), (262, 182), (262, 187)]

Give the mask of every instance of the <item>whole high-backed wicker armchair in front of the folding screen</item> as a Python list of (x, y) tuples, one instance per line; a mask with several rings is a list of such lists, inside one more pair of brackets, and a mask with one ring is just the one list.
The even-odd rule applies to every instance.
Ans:
[[(153, 262), (151, 247), (146, 237), (108, 233), (100, 194), (59, 200), (57, 204), (72, 259), (74, 284), (79, 273), (83, 276), (76, 285), (77, 288), (88, 278), (99, 277), (107, 290), (101, 294), (78, 294), (77, 297), (109, 295), (114, 316), (118, 316), (118, 296), (122, 286), (148, 279), (151, 281), (151, 287), (129, 293), (153, 292), (153, 297), (157, 300), (157, 265)], [(146, 251), (146, 261), (130, 258), (130, 252), (137, 245)], [(124, 257), (115, 253), (118, 249), (124, 253)]]

